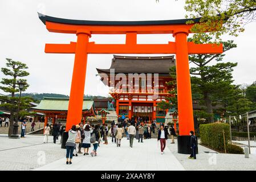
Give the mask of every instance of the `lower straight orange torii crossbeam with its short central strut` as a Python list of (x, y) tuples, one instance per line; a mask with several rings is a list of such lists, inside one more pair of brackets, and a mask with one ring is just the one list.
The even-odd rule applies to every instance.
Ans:
[[(46, 53), (75, 53), (76, 43), (46, 44)], [(95, 44), (88, 43), (88, 53), (176, 53), (176, 43), (168, 44), (136, 44), (136, 33), (127, 33), (127, 44)], [(222, 44), (194, 44), (188, 42), (189, 54), (222, 53)]]

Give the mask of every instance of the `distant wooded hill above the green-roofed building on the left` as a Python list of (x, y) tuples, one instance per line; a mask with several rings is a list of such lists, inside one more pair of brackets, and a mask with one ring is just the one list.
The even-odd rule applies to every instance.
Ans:
[[(19, 94), (15, 94), (15, 96), (19, 97)], [(32, 98), (34, 98), (34, 100), (36, 102), (40, 102), (43, 99), (43, 97), (69, 98), (69, 96), (67, 96), (67, 95), (57, 94), (57, 93), (22, 93), (21, 96), (22, 97), (26, 97), (26, 96), (32, 97)], [(85, 98), (93, 97), (93, 98), (98, 98), (98, 99), (107, 98), (107, 97), (103, 97), (103, 96), (92, 96), (92, 95), (84, 95), (84, 97)]]

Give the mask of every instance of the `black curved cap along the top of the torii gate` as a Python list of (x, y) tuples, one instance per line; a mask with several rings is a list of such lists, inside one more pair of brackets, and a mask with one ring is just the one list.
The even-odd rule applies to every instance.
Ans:
[(194, 23), (199, 23), (201, 18), (189, 19), (173, 19), (173, 20), (141, 20), (141, 21), (102, 21), (102, 20), (77, 20), (64, 19), (47, 16), (38, 13), (39, 19), (46, 24), (46, 22), (64, 23), (64, 24), (80, 24), (80, 25), (105, 25), (105, 26), (141, 26), (141, 25), (161, 25), (161, 24), (186, 24), (189, 20)]

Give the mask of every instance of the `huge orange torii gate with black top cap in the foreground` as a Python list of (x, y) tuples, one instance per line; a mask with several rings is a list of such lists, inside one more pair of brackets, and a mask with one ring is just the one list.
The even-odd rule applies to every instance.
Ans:
[[(76, 34), (77, 42), (70, 44), (46, 44), (46, 53), (75, 53), (75, 62), (68, 105), (66, 131), (81, 121), (86, 81), (88, 53), (137, 53), (176, 54), (177, 96), (178, 96), (178, 152), (188, 153), (189, 131), (194, 131), (192, 93), (189, 73), (189, 54), (222, 53), (222, 44), (194, 44), (187, 42), (193, 24), (197, 19), (156, 21), (89, 21), (55, 18), (38, 13), (40, 20), (50, 32)], [(92, 34), (126, 34), (125, 44), (95, 44), (89, 42)], [(137, 44), (137, 34), (172, 34), (175, 42), (168, 44)]]

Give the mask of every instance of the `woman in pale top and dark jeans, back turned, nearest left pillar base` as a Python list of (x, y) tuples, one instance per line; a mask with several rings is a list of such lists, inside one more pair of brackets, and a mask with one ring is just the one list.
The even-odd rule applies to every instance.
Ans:
[(71, 130), (68, 131), (68, 139), (67, 139), (67, 142), (66, 142), (66, 149), (67, 149), (67, 152), (66, 152), (66, 158), (67, 158), (66, 164), (68, 164), (68, 163), (72, 164), (73, 151), (74, 151), (74, 148), (76, 146), (75, 140), (76, 140), (76, 126), (73, 125)]

